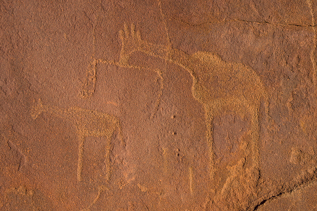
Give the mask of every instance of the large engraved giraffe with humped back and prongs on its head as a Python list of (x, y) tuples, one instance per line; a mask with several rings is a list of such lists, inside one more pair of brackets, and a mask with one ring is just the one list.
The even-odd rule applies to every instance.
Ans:
[(135, 32), (134, 25), (131, 31), (126, 24), (120, 31), (122, 48), (119, 63), (128, 65), (131, 53), (144, 52), (187, 70), (193, 78), (192, 94), (195, 99), (204, 105), (207, 124), (206, 139), (209, 142), (210, 177), (214, 178), (215, 153), (213, 149), (213, 119), (224, 112), (237, 113), (242, 117), (249, 114), (251, 117), (251, 154), (253, 168), (259, 162), (259, 109), (261, 102), (266, 102), (268, 114), (268, 97), (260, 78), (249, 67), (240, 63), (226, 63), (219, 56), (198, 51), (189, 55), (182, 50), (172, 47), (148, 43), (141, 39), (139, 31)]

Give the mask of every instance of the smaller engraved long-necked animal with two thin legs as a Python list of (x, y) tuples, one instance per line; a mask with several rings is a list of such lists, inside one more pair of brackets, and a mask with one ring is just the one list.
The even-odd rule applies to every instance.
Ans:
[(74, 122), (77, 128), (77, 134), (79, 139), (78, 150), (78, 167), (77, 167), (77, 179), (81, 181), (82, 175), (82, 154), (84, 139), (87, 136), (94, 137), (106, 137), (107, 139), (107, 151), (105, 152), (106, 171), (107, 178), (109, 177), (109, 148), (110, 139), (115, 131), (121, 139), (120, 122), (116, 117), (113, 117), (107, 113), (97, 112), (95, 110), (81, 109), (81, 108), (69, 108), (60, 109), (55, 106), (45, 106), (42, 104), (41, 99), (38, 100), (37, 106), (31, 110), (31, 117), (36, 119), (41, 113), (48, 113), (55, 117), (62, 119), (68, 119)]

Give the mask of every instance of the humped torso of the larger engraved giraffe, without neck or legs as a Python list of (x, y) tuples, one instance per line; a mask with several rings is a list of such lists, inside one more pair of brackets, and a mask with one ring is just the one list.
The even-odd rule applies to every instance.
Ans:
[(207, 107), (235, 110), (239, 106), (254, 105), (265, 95), (260, 78), (251, 68), (226, 63), (209, 52), (198, 51), (192, 56), (200, 62), (192, 68), (196, 78), (194, 94)]

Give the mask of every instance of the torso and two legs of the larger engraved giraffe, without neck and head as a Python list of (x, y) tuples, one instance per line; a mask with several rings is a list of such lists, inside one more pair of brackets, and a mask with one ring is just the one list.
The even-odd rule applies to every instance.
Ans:
[[(259, 107), (267, 102), (267, 94), (256, 73), (239, 63), (226, 63), (217, 55), (197, 52), (186, 61), (193, 77), (193, 96), (204, 105), (207, 140), (210, 144), (210, 176), (216, 171), (214, 162), (213, 119), (223, 113), (250, 115), (253, 168), (258, 167)], [(175, 61), (175, 63), (181, 63)]]

